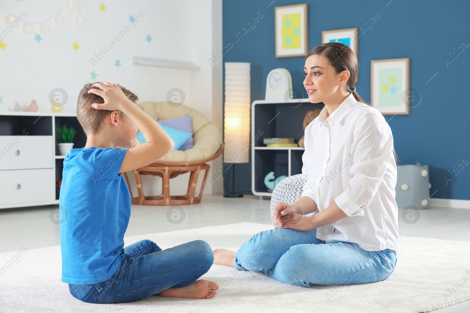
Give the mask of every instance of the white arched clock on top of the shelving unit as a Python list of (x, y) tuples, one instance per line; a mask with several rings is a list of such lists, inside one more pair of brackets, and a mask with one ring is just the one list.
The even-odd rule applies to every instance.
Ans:
[(265, 100), (285, 102), (292, 90), (292, 77), (287, 69), (273, 69), (266, 78)]

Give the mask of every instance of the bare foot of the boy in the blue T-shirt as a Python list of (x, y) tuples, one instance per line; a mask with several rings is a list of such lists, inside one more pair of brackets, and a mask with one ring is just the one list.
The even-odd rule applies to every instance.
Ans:
[(160, 292), (160, 296), (172, 298), (211, 299), (214, 298), (218, 289), (219, 284), (217, 282), (200, 279), (185, 287), (165, 289)]

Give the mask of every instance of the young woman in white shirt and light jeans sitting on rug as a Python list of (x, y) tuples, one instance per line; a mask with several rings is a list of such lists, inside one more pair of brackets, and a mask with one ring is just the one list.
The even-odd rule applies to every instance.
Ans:
[(305, 129), (303, 193), (292, 205), (274, 206), (274, 229), (237, 252), (214, 250), (214, 264), (306, 287), (378, 282), (392, 274), (398, 246), (393, 137), (384, 116), (356, 92), (358, 68), (341, 43), (308, 54), (308, 99), (325, 107)]

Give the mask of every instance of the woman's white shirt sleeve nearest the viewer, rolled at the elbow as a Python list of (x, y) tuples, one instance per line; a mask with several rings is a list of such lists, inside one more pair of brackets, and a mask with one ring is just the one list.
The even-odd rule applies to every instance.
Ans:
[(353, 131), (349, 186), (335, 198), (348, 216), (364, 216), (382, 182), (393, 153), (392, 131), (382, 115), (368, 112)]

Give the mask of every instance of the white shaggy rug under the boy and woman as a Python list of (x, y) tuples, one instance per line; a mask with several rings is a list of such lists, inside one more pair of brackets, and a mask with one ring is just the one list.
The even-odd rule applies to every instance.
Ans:
[[(202, 239), (236, 250), (272, 225), (238, 224), (126, 237), (151, 239), (163, 249)], [(10, 264), (16, 252), (0, 254)], [(361, 285), (297, 287), (263, 273), (214, 265), (202, 278), (220, 284), (213, 299), (151, 296), (127, 304), (88, 304), (61, 282), (60, 246), (28, 250), (0, 276), (0, 312), (431, 312), (470, 299), (470, 243), (400, 237), (398, 261), (386, 280)]]

